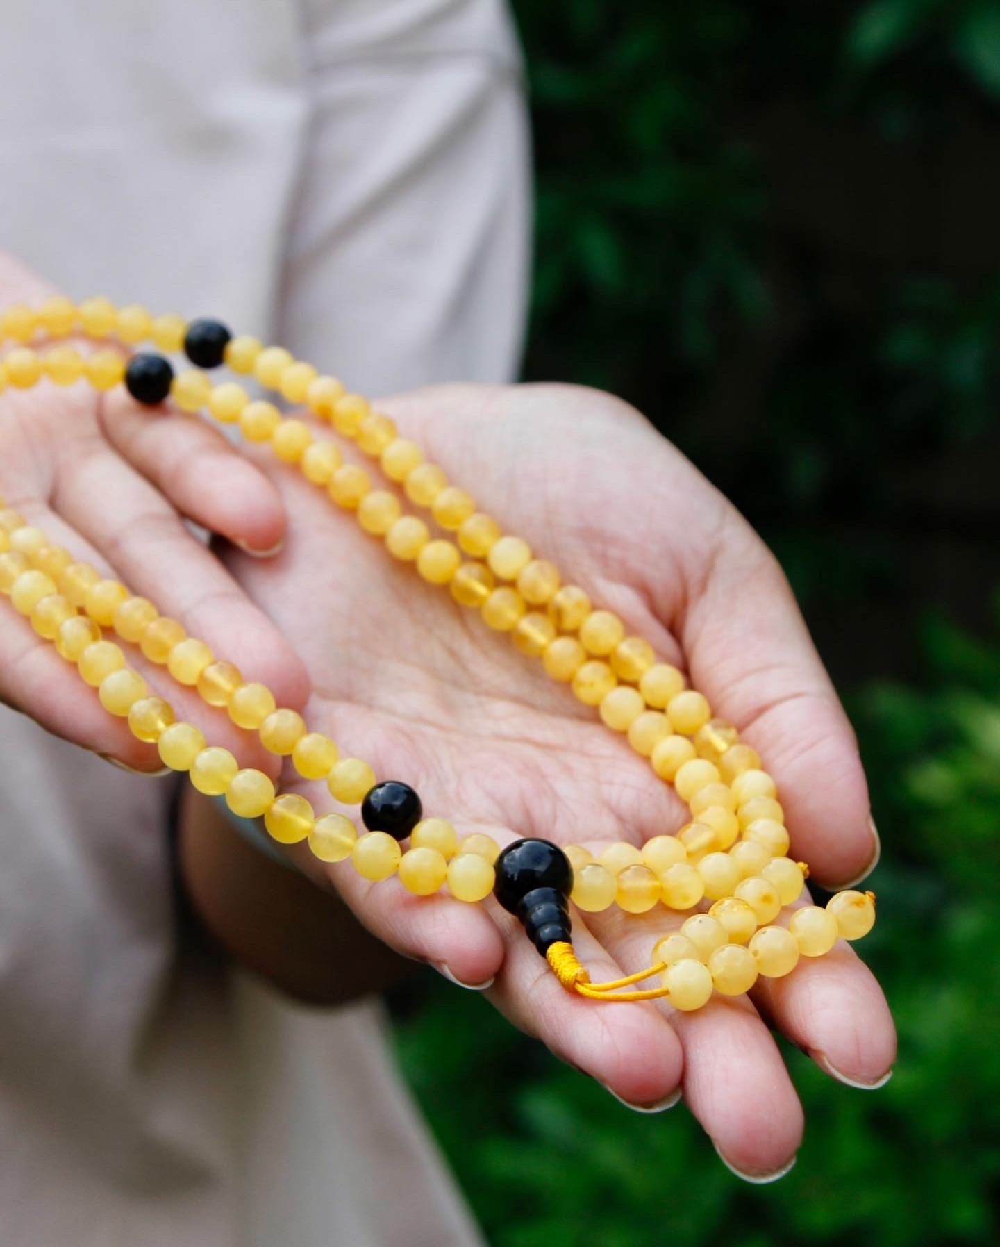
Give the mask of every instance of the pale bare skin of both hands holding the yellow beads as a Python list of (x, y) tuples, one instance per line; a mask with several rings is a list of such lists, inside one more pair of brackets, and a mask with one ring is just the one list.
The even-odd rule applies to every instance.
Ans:
[[(32, 282), (0, 272), (5, 301), (44, 297)], [(591, 848), (638, 844), (681, 824), (672, 789), (592, 710), (475, 611), (394, 562), (294, 470), (254, 454), (258, 471), (193, 419), (151, 415), (118, 397), (99, 403), (85, 388), (4, 395), (0, 404), (0, 490), (29, 519), (113, 569), (248, 678), (269, 683), (279, 703), (300, 708), (342, 752), (414, 784), (428, 813), (463, 833)], [(572, 387), (446, 387), (380, 408), (501, 525), (690, 672), (716, 713), (761, 752), (792, 852), (814, 878), (839, 885), (874, 863), (854, 736), (781, 570), (638, 413)], [(71, 435), (94, 454), (74, 454)], [(167, 455), (185, 466), (165, 471)], [(267, 549), (282, 536), (282, 503), (291, 518), (283, 551), (268, 560), (231, 552), (227, 567), (180, 520), (192, 515)], [(130, 766), (158, 767), (155, 751), (107, 718), (51, 646), (10, 616), (0, 628), (0, 696), (52, 731)], [(267, 762), (224, 717), (180, 695), (162, 672), (153, 678), (213, 743), (236, 747), (243, 764)], [(319, 784), (286, 779), (318, 811), (334, 808)], [(682, 1089), (746, 1175), (787, 1165), (803, 1129), (769, 1026), (864, 1085), (879, 1082), (895, 1057), (884, 998), (847, 945), (762, 981), (751, 1000), (716, 998), (696, 1014), (662, 1003), (601, 1004), (566, 993), (493, 902), (415, 898), (398, 880), (365, 883), (349, 863), (323, 865), (303, 845), (289, 855), (399, 953), (446, 965), (470, 985), (493, 979), (486, 995), (499, 1009), (621, 1099), (653, 1105)], [(212, 927), (211, 894), (201, 908)], [(680, 920), (662, 908), (576, 914), (577, 953), (595, 979), (616, 978), (648, 964), (655, 940)]]

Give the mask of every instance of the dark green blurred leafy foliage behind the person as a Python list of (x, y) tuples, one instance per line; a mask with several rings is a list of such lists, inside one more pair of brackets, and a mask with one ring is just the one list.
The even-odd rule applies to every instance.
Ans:
[(900, 1055), (865, 1094), (791, 1050), (807, 1136), (764, 1188), (436, 983), (395, 1001), (408, 1076), (498, 1247), (996, 1242), (1000, 5), (516, 11), (526, 375), (636, 403), (783, 559), (869, 768)]

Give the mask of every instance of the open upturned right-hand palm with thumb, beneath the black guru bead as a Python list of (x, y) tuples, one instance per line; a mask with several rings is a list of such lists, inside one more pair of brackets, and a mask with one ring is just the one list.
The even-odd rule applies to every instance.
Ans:
[[(778, 565), (636, 412), (570, 387), (449, 387), (382, 407), (564, 580), (688, 670), (774, 774), (792, 852), (814, 878), (843, 884), (874, 864), (854, 736)], [(309, 671), (310, 728), (380, 778), (414, 784), (425, 812), (460, 833), (600, 848), (681, 824), (673, 791), (537, 661), (394, 562), (322, 490), (272, 470), (293, 516), (284, 551), (268, 564), (236, 554), (232, 567)], [(317, 784), (288, 787), (332, 806)], [(623, 1100), (650, 1105), (682, 1086), (744, 1175), (784, 1166), (803, 1126), (769, 1024), (845, 1080), (875, 1084), (894, 1060), (882, 993), (843, 944), (761, 980), (752, 1000), (717, 996), (695, 1014), (601, 1004), (566, 993), (491, 899), (416, 898), (395, 879), (365, 883), (349, 863), (325, 867), (304, 845), (291, 852), (398, 950), (466, 984), (495, 976), (488, 994), (507, 1016)], [(661, 907), (577, 913), (576, 949), (596, 979), (616, 978), (648, 964), (680, 920)]]

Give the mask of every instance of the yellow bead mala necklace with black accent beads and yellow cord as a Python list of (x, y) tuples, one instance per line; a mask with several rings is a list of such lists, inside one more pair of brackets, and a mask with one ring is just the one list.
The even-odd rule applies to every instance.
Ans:
[[(127, 345), (150, 340), (161, 352), (183, 352), (196, 367), (175, 373), (163, 354), (152, 352), (125, 358), (120, 349), (85, 354), (62, 344), (40, 354), (29, 345), (75, 333)], [(522, 655), (541, 660), (552, 680), (594, 706), (673, 784), (691, 821), (676, 835), (653, 837), (641, 849), (618, 842), (597, 858), (579, 845), (560, 848), (536, 838), (515, 840), (502, 852), (481, 833), (459, 842), (449, 822), (424, 818), (409, 784), (378, 782), (367, 762), (342, 757), (334, 741), (309, 731), (296, 711), (278, 707), (262, 683), (244, 681), (237, 667), (151, 601), (52, 545), (0, 498), (0, 592), (76, 665), (101, 705), (126, 718), (140, 741), (156, 744), (167, 767), (187, 772), (198, 792), (224, 797), (238, 816), (263, 818), (282, 844), (305, 842), (323, 862), (349, 860), (372, 882), (398, 875), (418, 895), (446, 888), (469, 903), (493, 893), (520, 919), (560, 983), (597, 1000), (666, 996), (677, 1009), (700, 1009), (713, 991), (742, 995), (758, 975), (782, 978), (800, 956), (822, 956), (838, 938), (860, 939), (872, 929), (875, 895), (855, 890), (838, 893), (825, 908), (794, 909), (787, 927), (776, 924), (783, 908), (799, 899), (808, 868), (787, 857), (784, 811), (757, 752), (731, 723), (713, 717), (681, 671), (657, 661), (648, 641), (626, 636), (616, 615), (596, 609), (579, 586), (562, 584), (554, 564), (505, 534), (464, 489), (425, 461), (414, 441), (399, 436), (389, 416), (373, 412), (360, 394), (347, 393), (337, 378), (320, 375), (282, 347), (234, 338), (218, 320), (152, 318), (142, 307), (118, 309), (102, 298), (11, 307), (0, 318), (4, 339), (16, 345), (0, 359), (0, 392), (7, 385), (29, 389), (42, 379), (56, 385), (84, 379), (97, 390), (125, 384), (141, 404), (170, 398), (183, 412), (207, 413), (238, 425), (247, 440), (268, 444), (278, 459), (354, 513), (394, 559), (448, 589), (460, 606), (478, 610), (488, 627), (509, 633)], [(377, 488), (364, 468), (345, 463), (338, 444), (317, 438), (304, 420), (252, 398), (237, 382), (212, 384), (204, 370), (223, 363), (304, 405), (353, 441), (388, 484), (400, 486), (454, 540), (434, 536), (425, 519), (404, 511), (397, 491)], [(105, 638), (105, 630), (137, 646), (180, 685), (196, 688), (209, 706), (226, 710), (238, 727), (257, 732), (264, 748), (289, 757), (304, 779), (324, 781), (340, 803), (360, 803), (367, 831), (359, 835), (339, 813), (317, 817), (304, 797), (276, 792), (262, 771), (241, 769), (228, 749), (208, 744), (195, 725), (178, 722), (170, 702), (127, 666), (125, 651)], [(663, 904), (691, 915), (680, 932), (656, 943), (647, 969), (591, 983), (574, 953), (570, 900), (585, 913), (612, 904), (645, 913)], [(708, 912), (693, 912), (703, 900), (712, 903)], [(657, 988), (621, 990), (653, 975), (661, 975)]]

